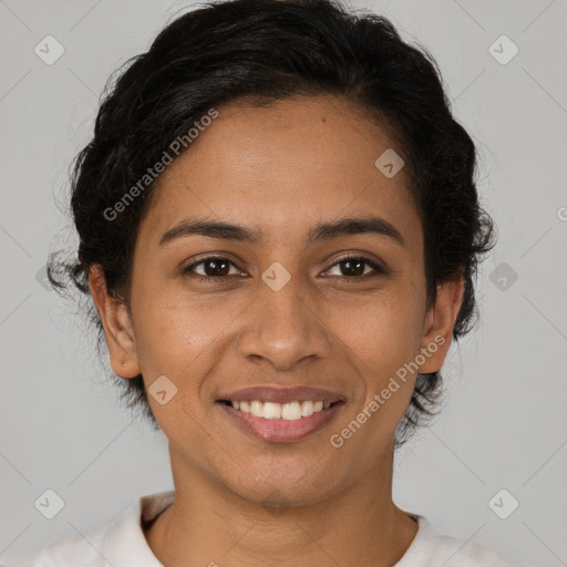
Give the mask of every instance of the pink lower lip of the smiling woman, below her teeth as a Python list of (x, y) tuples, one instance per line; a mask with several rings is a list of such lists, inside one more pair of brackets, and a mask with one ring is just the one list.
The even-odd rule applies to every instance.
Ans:
[(231, 405), (223, 402), (218, 403), (245, 432), (251, 433), (264, 441), (276, 443), (299, 441), (311, 435), (327, 425), (334, 417), (337, 411), (344, 405), (343, 402), (339, 402), (327, 410), (315, 412), (299, 420), (266, 420), (265, 417), (255, 417), (251, 413), (235, 410)]

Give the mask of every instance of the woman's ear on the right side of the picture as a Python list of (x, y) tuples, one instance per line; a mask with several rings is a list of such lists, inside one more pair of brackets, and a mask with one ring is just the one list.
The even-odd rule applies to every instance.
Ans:
[(464, 280), (446, 281), (437, 286), (434, 305), (427, 309), (423, 326), (421, 352), (426, 354), (419, 372), (437, 372), (445, 361), (453, 339), (453, 327), (463, 303)]

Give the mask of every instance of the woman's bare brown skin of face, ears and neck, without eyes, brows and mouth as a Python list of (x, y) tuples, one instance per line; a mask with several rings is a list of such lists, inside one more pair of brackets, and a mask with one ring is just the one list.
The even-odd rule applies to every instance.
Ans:
[[(408, 179), (374, 166), (386, 148), (403, 152), (363, 110), (317, 96), (218, 111), (158, 179), (137, 235), (130, 312), (99, 269), (90, 275), (113, 370), (126, 380), (142, 372), (146, 388), (166, 375), (178, 389), (165, 405), (150, 396), (176, 498), (146, 539), (166, 567), (391, 566), (417, 529), (391, 496), (394, 432), (415, 374), (342, 447), (329, 437), (440, 336), (444, 344), (420, 371), (442, 367), (462, 280), (439, 286), (427, 308)], [(306, 243), (318, 223), (369, 215), (392, 224), (404, 245), (375, 234)], [(194, 217), (264, 236), (252, 244), (193, 235), (159, 246)], [(347, 252), (388, 274), (350, 281), (352, 268), (338, 264)], [(224, 282), (210, 265), (193, 272), (212, 282), (183, 275), (208, 254), (234, 264)], [(291, 276), (277, 292), (261, 279), (272, 262)], [(362, 272), (374, 270), (364, 264), (354, 275)], [(264, 384), (326, 388), (346, 403), (315, 434), (270, 443), (244, 433), (216, 403), (221, 391)]]

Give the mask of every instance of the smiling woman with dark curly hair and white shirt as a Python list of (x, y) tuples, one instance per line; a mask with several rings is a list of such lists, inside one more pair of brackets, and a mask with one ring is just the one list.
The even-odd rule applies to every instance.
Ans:
[[(426, 51), (329, 0), (172, 22), (79, 154), (78, 260), (175, 491), (13, 565), (511, 566), (392, 501), (493, 246)], [(105, 563), (106, 561), (106, 563)]]

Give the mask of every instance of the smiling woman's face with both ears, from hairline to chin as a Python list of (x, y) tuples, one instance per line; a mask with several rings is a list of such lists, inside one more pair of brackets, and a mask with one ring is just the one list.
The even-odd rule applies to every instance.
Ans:
[(403, 152), (362, 110), (321, 96), (218, 112), (159, 177), (131, 316), (95, 275), (91, 288), (114, 371), (161, 392), (148, 399), (174, 475), (313, 503), (388, 466), (416, 367), (441, 368), (462, 290), (442, 286), (426, 306), (405, 172), (374, 165)]

